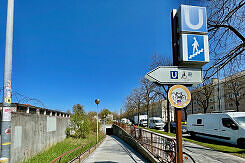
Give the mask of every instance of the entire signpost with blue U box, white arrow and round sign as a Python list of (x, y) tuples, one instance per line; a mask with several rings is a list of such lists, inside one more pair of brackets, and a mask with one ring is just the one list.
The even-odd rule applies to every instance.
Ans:
[[(171, 12), (172, 50), (174, 66), (159, 66), (145, 78), (161, 85), (193, 85), (202, 83), (201, 67), (209, 62), (207, 14), (205, 7), (181, 5)], [(186, 67), (178, 67), (178, 66)], [(195, 68), (194, 68), (195, 67)], [(177, 115), (177, 162), (183, 162), (181, 109), (191, 94), (183, 85), (175, 85), (168, 92)]]

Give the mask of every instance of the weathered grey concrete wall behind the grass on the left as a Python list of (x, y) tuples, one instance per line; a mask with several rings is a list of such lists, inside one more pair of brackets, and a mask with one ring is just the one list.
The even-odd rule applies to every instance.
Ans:
[(12, 113), (11, 162), (19, 162), (65, 139), (68, 117)]

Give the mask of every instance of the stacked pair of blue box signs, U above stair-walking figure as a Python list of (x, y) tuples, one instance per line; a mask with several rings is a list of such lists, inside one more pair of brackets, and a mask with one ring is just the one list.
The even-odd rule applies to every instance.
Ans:
[(177, 14), (180, 65), (206, 64), (209, 62), (206, 8), (181, 5)]

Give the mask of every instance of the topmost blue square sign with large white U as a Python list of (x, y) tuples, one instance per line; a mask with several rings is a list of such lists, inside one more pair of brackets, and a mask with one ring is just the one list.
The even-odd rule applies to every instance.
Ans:
[(179, 29), (180, 33), (207, 33), (207, 14), (205, 7), (180, 5)]

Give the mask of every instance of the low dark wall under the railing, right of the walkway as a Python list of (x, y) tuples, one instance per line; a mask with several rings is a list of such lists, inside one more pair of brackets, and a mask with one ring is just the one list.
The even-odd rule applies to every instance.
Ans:
[(119, 137), (123, 141), (125, 141), (128, 145), (130, 145), (134, 150), (136, 150), (139, 154), (141, 154), (145, 159), (152, 163), (160, 162), (154, 156), (147, 151), (140, 143), (138, 143), (132, 136), (130, 136), (125, 130), (122, 128), (112, 125), (113, 135)]

